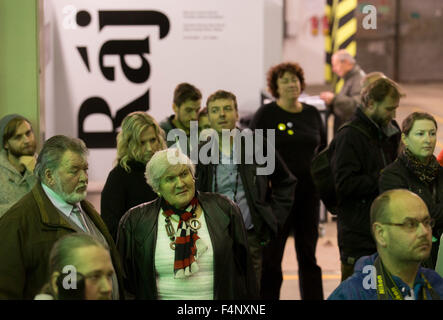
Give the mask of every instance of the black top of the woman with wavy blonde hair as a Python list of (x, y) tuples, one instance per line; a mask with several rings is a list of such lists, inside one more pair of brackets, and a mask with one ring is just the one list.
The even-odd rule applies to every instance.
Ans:
[(131, 172), (117, 165), (109, 173), (101, 196), (101, 217), (114, 240), (117, 239), (121, 217), (139, 204), (157, 198), (157, 194), (146, 183), (145, 164), (129, 161)]

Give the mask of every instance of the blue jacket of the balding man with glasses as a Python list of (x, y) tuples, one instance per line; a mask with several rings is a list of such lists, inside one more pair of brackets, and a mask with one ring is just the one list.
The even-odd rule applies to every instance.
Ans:
[[(374, 267), (375, 259), (377, 258), (378, 254), (373, 254), (371, 256), (365, 256), (361, 257), (360, 260), (357, 261), (354, 269), (354, 274), (343, 281), (337, 289), (332, 292), (332, 294), (329, 296), (328, 300), (377, 300), (377, 289), (374, 288), (364, 288), (363, 286), (365, 284), (372, 284), (372, 281), (369, 281), (370, 271), (373, 270), (372, 267)], [(367, 266), (371, 266), (368, 268)], [(366, 267), (366, 268), (365, 268)], [(368, 270), (366, 270), (368, 269)], [(440, 298), (443, 297), (443, 279), (431, 269), (426, 269), (420, 267), (417, 272), (417, 277), (415, 278), (414, 283), (414, 292), (415, 295), (421, 291), (423, 286), (425, 286), (425, 281), (421, 277), (421, 275), (424, 275), (426, 279), (431, 284), (432, 288), (435, 290), (435, 292), (440, 296)], [(406, 296), (407, 293), (409, 293), (409, 286), (403, 282), (399, 277), (392, 276), (392, 279), (394, 280), (395, 284), (397, 285), (398, 289), (400, 290), (403, 298)], [(376, 280), (375, 280), (376, 281)], [(432, 297), (429, 294), (429, 291), (426, 290), (426, 297), (427, 299), (431, 300)]]

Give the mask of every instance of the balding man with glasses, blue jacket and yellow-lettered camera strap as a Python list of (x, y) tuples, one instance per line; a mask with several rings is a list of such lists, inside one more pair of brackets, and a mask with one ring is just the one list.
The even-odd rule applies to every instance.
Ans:
[(354, 274), (329, 300), (440, 300), (443, 278), (420, 266), (429, 257), (432, 227), (423, 200), (406, 189), (389, 190), (371, 205), (377, 253), (361, 257)]

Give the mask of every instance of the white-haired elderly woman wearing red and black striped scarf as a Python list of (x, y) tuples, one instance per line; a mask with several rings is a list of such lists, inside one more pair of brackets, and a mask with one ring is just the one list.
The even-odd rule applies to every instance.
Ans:
[(117, 236), (125, 289), (136, 299), (254, 299), (258, 292), (239, 208), (196, 192), (194, 165), (158, 151), (146, 180), (159, 198), (130, 209)]

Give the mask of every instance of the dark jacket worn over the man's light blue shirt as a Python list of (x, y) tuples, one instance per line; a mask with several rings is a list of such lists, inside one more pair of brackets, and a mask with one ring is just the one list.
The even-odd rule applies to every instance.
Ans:
[[(297, 179), (291, 174), (277, 151), (266, 148), (263, 154), (275, 153), (275, 170), (270, 175), (257, 175), (259, 165), (257, 165), (255, 157), (252, 164), (245, 161), (245, 139), (242, 138), (241, 141), (242, 160), (238, 164), (238, 172), (245, 190), (254, 229), (261, 241), (266, 243), (276, 236), (279, 227), (283, 226), (290, 213)], [(263, 144), (266, 146), (265, 141)], [(196, 168), (197, 190), (213, 191), (214, 166), (211, 163), (198, 163)]]

